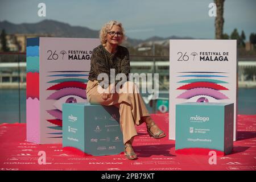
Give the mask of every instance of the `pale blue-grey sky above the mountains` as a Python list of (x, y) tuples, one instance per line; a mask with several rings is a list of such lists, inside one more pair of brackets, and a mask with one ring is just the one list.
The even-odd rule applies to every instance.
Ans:
[[(46, 18), (39, 17), (38, 4), (46, 3)], [(0, 0), (0, 20), (12, 23), (35, 23), (44, 19), (58, 20), (72, 26), (100, 30), (115, 19), (123, 23), (130, 38), (151, 36), (191, 36), (214, 38), (214, 17), (208, 15), (213, 0)], [(256, 1), (226, 0), (224, 32), (237, 28), (246, 39), (256, 33)]]

